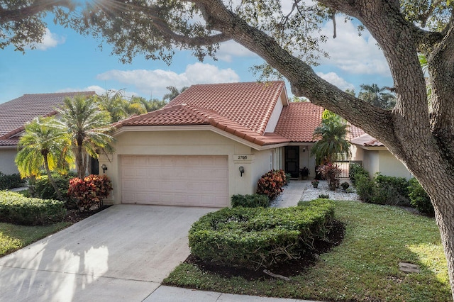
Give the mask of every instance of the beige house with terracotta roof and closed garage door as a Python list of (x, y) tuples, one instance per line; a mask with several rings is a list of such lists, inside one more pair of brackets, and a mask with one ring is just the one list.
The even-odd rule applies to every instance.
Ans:
[(164, 108), (115, 124), (116, 152), (99, 160), (113, 181), (109, 201), (225, 207), (233, 194), (254, 194), (270, 169), (314, 175), (322, 111), (289, 103), (280, 81), (191, 86)]

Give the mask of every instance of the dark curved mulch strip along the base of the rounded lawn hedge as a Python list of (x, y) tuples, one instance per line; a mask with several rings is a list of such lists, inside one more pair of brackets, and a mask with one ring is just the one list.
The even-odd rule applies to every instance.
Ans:
[[(304, 272), (305, 269), (314, 266), (319, 255), (329, 252), (333, 247), (340, 245), (345, 235), (345, 226), (341, 221), (333, 221), (330, 233), (328, 233), (328, 240), (316, 240), (314, 242), (314, 250), (305, 252), (299, 259), (292, 259), (287, 262), (281, 262), (268, 267), (267, 270), (273, 274), (282, 276), (296, 276)], [(226, 277), (241, 276), (246, 280), (257, 279), (274, 279), (275, 277), (265, 274), (263, 267), (257, 270), (246, 269), (243, 267), (228, 267), (217, 265), (212, 262), (204, 262), (193, 255), (189, 255), (184, 263), (195, 264), (199, 269), (204, 272), (210, 272)]]

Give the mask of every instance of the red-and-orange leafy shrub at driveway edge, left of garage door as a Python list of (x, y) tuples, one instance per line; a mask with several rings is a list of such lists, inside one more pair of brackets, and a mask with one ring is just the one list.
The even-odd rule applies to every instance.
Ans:
[(105, 175), (89, 175), (84, 179), (74, 177), (70, 180), (68, 195), (77, 200), (77, 206), (82, 211), (88, 211), (96, 205), (101, 208), (103, 200), (112, 191), (112, 182)]

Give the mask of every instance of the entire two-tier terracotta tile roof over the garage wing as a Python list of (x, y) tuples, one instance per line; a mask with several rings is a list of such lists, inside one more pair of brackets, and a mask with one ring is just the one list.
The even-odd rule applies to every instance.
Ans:
[(212, 125), (256, 145), (289, 142), (277, 133), (265, 133), (277, 101), (287, 106), (284, 82), (194, 85), (164, 108), (133, 116), (123, 126)]

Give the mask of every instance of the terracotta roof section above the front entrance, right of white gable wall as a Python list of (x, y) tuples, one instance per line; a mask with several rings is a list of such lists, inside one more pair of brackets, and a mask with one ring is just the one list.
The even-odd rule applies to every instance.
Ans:
[(312, 133), (321, 123), (323, 108), (309, 102), (290, 103), (282, 109), (275, 133), (292, 142), (315, 142)]

